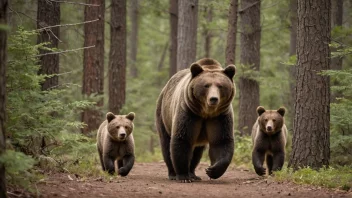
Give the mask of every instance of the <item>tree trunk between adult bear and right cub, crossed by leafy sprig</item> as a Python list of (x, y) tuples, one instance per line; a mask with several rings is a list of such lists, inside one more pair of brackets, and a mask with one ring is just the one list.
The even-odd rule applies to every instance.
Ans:
[[(259, 71), (260, 66), (260, 1), (242, 0), (241, 10), (241, 56), (240, 63)], [(239, 81), (239, 121), (238, 130), (242, 135), (250, 135), (258, 115), (259, 84), (253, 78), (241, 76)]]

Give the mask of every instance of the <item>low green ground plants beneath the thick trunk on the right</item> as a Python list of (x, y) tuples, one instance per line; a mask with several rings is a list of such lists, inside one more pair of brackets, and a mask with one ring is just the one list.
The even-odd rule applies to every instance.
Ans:
[(275, 179), (348, 191), (352, 187), (352, 167), (321, 168), (319, 171), (311, 168), (302, 168), (297, 171), (285, 168), (275, 172)]

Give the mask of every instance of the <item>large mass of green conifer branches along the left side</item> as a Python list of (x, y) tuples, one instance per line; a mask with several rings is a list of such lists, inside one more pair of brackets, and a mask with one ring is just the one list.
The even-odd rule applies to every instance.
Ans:
[[(47, 156), (52, 154), (53, 149), (57, 150), (62, 145), (76, 149), (74, 141), (78, 140), (65, 139), (63, 134), (82, 127), (83, 123), (76, 121), (77, 115), (94, 104), (63, 97), (74, 88), (72, 85), (41, 90), (40, 83), (52, 75), (38, 75), (38, 49), (48, 48), (45, 43), (33, 45), (31, 40), (35, 36), (34, 31), (19, 28), (9, 37), (6, 76), (6, 136), (11, 150), (7, 150), (7, 155), (1, 160), (5, 162), (9, 184), (25, 188), (30, 188), (29, 184), (38, 179), (33, 171), (29, 171), (35, 164), (32, 157), (37, 159), (37, 165), (48, 166), (43, 160), (52, 159)], [(53, 166), (56, 165), (54, 163)]]

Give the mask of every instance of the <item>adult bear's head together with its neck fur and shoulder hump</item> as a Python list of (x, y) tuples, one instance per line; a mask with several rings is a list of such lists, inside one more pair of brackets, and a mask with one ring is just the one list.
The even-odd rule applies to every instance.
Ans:
[(188, 95), (196, 106), (193, 109), (198, 109), (198, 113), (203, 117), (222, 113), (231, 104), (235, 95), (233, 82), (235, 66), (229, 65), (223, 69), (217, 61), (211, 60), (203, 59), (202, 62), (193, 63), (190, 67), (192, 80)]

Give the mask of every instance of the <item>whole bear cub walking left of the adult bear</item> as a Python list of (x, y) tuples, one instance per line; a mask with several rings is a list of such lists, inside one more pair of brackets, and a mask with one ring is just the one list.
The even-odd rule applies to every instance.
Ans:
[(133, 112), (127, 115), (114, 115), (109, 112), (100, 125), (97, 134), (97, 148), (103, 171), (126, 176), (134, 164)]

